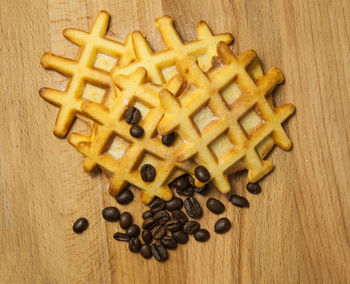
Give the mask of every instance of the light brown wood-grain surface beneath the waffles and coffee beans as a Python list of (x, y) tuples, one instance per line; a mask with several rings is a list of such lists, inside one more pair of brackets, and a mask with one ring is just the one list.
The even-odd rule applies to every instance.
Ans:
[[(83, 157), (53, 136), (57, 108), (40, 99), (42, 86), (66, 80), (44, 71), (44, 51), (74, 57), (65, 27), (87, 30), (100, 9), (112, 15), (111, 35), (141, 29), (154, 48), (153, 19), (174, 17), (185, 40), (198, 20), (232, 32), (233, 49), (255, 49), (265, 70), (286, 77), (277, 105), (297, 113), (286, 129), (290, 152), (275, 149), (275, 170), (263, 192), (233, 180), (248, 210), (226, 204), (233, 228), (215, 235), (217, 217), (205, 210), (212, 237), (170, 252), (165, 264), (144, 260), (112, 235), (119, 225), (101, 218), (116, 204), (101, 175), (82, 171)], [(346, 283), (350, 281), (350, 2), (321, 1), (0, 1), (0, 282), (1, 283)], [(76, 129), (84, 129), (82, 123)], [(140, 224), (145, 206), (136, 193), (129, 210)], [(201, 199), (204, 203), (205, 199)], [(82, 235), (72, 232), (81, 216)]]

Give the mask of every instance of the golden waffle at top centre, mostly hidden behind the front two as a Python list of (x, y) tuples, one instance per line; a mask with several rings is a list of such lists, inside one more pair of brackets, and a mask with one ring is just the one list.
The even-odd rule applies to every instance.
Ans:
[[(155, 20), (155, 26), (159, 30), (164, 41), (165, 49), (159, 52), (152, 52), (146, 39), (141, 32), (132, 33), (132, 41), (135, 50), (136, 60), (125, 67), (115, 67), (112, 70), (112, 78), (119, 74), (129, 75), (138, 67), (147, 70), (151, 82), (164, 84), (168, 79), (176, 75), (175, 63), (187, 55), (198, 58), (199, 65), (203, 70), (211, 67), (211, 59), (215, 56), (216, 46), (220, 41), (230, 44), (233, 40), (231, 34), (213, 35), (208, 25), (201, 21), (197, 24), (198, 38), (194, 41), (184, 43), (174, 28), (172, 18), (163, 16)], [(166, 70), (166, 78), (162, 70)]]

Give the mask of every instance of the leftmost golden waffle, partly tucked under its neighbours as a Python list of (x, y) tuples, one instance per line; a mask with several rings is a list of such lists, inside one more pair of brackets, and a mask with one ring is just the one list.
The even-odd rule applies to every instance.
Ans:
[(50, 52), (45, 53), (41, 59), (44, 68), (71, 77), (65, 91), (42, 88), (39, 92), (42, 98), (60, 107), (53, 130), (58, 137), (66, 135), (77, 113), (82, 114), (81, 103), (86, 100), (83, 94), (87, 82), (111, 92), (106, 94), (104, 99), (115, 96), (115, 87), (109, 72), (94, 67), (97, 53), (119, 58), (120, 66), (134, 59), (131, 35), (127, 36), (125, 44), (106, 38), (108, 22), (109, 14), (100, 11), (90, 32), (64, 30), (63, 34), (68, 40), (81, 46), (77, 60), (56, 56)]

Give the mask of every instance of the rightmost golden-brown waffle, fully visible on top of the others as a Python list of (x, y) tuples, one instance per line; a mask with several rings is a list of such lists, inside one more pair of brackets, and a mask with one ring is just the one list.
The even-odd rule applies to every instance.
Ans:
[[(295, 110), (292, 104), (272, 109), (267, 96), (284, 78), (280, 70), (273, 67), (255, 83), (246, 68), (256, 54), (247, 51), (235, 57), (224, 43), (218, 45), (218, 55), (222, 62), (205, 74), (194, 57), (187, 57), (178, 63), (178, 72), (192, 86), (187, 88), (179, 98), (166, 89), (160, 93), (160, 100), (165, 116), (158, 125), (158, 131), (166, 134), (178, 131), (186, 141), (177, 151), (178, 161), (191, 157), (205, 166), (212, 177), (214, 185), (223, 193), (230, 191), (228, 174), (239, 161), (248, 169), (248, 179), (255, 182), (270, 172), (273, 165), (264, 161), (256, 147), (268, 136), (282, 149), (288, 150), (292, 143), (284, 132), (281, 123)], [(242, 90), (241, 95), (230, 106), (224, 101), (220, 92), (235, 81)], [(192, 115), (208, 106), (215, 114), (215, 119), (201, 133), (192, 122)], [(247, 135), (239, 120), (250, 110), (255, 109), (263, 123)], [(220, 135), (226, 135), (232, 147), (217, 157), (210, 149), (210, 144)]]

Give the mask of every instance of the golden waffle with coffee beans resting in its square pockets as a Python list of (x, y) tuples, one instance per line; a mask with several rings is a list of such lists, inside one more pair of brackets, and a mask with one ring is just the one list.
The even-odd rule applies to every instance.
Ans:
[[(164, 112), (159, 101), (160, 86), (146, 81), (147, 72), (138, 68), (130, 76), (120, 75), (116, 78), (119, 92), (111, 108), (94, 102), (84, 102), (82, 110), (95, 120), (100, 126), (93, 140), (86, 136), (71, 133), (69, 142), (87, 156), (84, 169), (92, 171), (96, 165), (106, 170), (110, 175), (110, 193), (117, 195), (127, 183), (141, 189), (141, 200), (144, 203), (152, 201), (154, 196), (170, 200), (172, 193), (168, 183), (173, 173), (180, 169), (182, 172), (193, 173), (195, 164), (192, 162), (178, 163), (174, 160), (174, 147), (167, 147), (155, 136), (159, 120)], [(179, 81), (170, 81), (167, 88), (176, 92), (180, 86)], [(141, 138), (130, 135), (130, 125), (125, 121), (124, 114), (135, 101), (142, 102), (149, 107), (149, 111), (138, 124), (144, 129)], [(111, 140), (122, 138), (129, 143), (129, 147), (119, 159), (108, 153)], [(140, 167), (144, 164), (145, 154), (156, 158), (153, 166), (156, 169), (156, 178), (153, 182), (144, 182), (140, 175)]]

